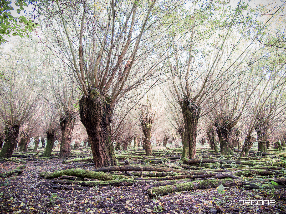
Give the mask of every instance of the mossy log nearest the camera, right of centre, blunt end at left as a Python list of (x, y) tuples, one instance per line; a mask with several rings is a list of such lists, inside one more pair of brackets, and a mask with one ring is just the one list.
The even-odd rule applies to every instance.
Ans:
[(174, 185), (167, 185), (162, 187), (154, 187), (152, 189), (148, 189), (148, 194), (150, 197), (166, 195), (172, 192), (182, 192), (187, 190), (195, 190), (195, 189), (206, 189), (210, 187), (218, 187), (223, 184), (224, 186), (235, 186), (237, 185), (233, 179), (211, 179), (211, 180), (198, 180), (191, 181), (187, 183), (177, 183)]

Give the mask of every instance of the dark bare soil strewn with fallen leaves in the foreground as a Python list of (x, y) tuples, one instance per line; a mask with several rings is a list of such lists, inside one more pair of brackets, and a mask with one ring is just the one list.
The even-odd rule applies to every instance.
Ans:
[[(27, 158), (26, 158), (27, 159)], [(62, 159), (26, 160), (25, 169), (0, 179), (0, 213), (286, 213), (286, 188), (244, 189), (224, 187), (173, 192), (150, 197), (144, 186), (80, 186), (51, 183), (40, 177), (64, 169), (94, 169), (83, 163), (62, 164)], [(72, 158), (70, 158), (72, 159)], [(24, 160), (24, 159), (23, 159)], [(0, 173), (15, 169), (21, 163), (0, 162)], [(233, 200), (233, 201), (232, 201)], [(245, 201), (243, 201), (245, 200)], [(247, 200), (253, 200), (248, 204)], [(258, 200), (258, 201), (257, 201)], [(272, 205), (257, 205), (262, 200), (275, 200)], [(243, 205), (245, 202), (245, 205)], [(233, 203), (235, 203), (233, 205)], [(250, 203), (250, 201), (249, 201)], [(275, 203), (275, 205), (274, 205)]]

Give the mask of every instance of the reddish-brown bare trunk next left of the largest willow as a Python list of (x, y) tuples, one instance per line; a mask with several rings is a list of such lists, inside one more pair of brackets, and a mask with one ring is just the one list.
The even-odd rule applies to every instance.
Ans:
[(59, 118), (61, 128), (61, 148), (59, 158), (68, 158), (71, 151), (72, 132), (76, 117), (73, 111), (66, 111), (63, 117)]

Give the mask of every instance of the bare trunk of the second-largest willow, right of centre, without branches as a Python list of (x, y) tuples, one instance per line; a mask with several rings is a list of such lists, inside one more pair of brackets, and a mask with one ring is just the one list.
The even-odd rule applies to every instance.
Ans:
[(201, 109), (194, 101), (187, 98), (180, 99), (179, 104), (184, 118), (185, 140), (189, 146), (189, 157), (190, 159), (196, 158), (196, 135)]

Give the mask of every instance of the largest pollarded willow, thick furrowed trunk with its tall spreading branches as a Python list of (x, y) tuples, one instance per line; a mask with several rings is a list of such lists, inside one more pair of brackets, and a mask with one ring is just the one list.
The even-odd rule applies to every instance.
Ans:
[(45, 7), (45, 14), (51, 14), (45, 27), (53, 29), (52, 42), (57, 43), (83, 92), (80, 118), (95, 167), (116, 164), (110, 137), (114, 105), (153, 77), (168, 48), (151, 60), (152, 51), (166, 40), (160, 22), (179, 4), (176, 0), (85, 0), (54, 1)]

